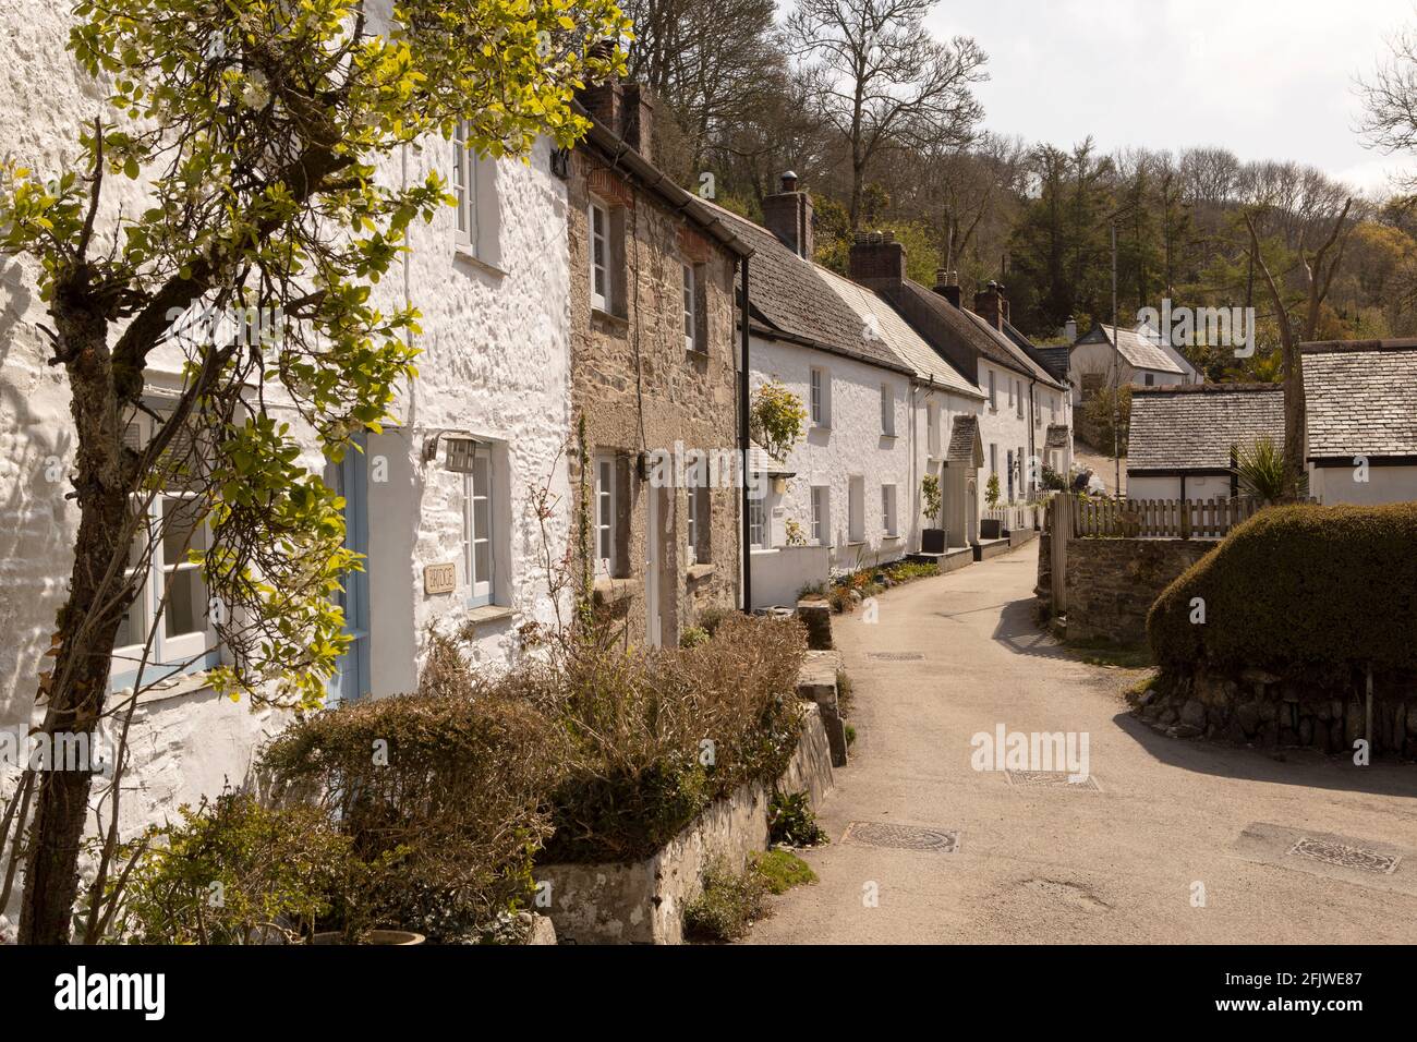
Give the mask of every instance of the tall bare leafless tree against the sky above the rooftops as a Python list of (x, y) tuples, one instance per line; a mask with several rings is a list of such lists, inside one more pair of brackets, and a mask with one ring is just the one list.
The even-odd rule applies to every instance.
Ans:
[(850, 147), (847, 213), (860, 227), (867, 167), (886, 147), (964, 143), (983, 115), (972, 86), (988, 57), (973, 40), (935, 41), (931, 0), (798, 0), (786, 24), (816, 109)]

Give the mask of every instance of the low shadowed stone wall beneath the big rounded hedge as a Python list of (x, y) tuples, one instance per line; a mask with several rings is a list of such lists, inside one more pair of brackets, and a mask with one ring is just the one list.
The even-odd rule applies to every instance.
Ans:
[[(1366, 734), (1366, 683), (1360, 676), (1335, 688), (1281, 680), (1258, 669), (1237, 676), (1197, 671), (1163, 678), (1142, 695), (1138, 715), (1178, 739), (1352, 754)], [(1417, 678), (1374, 678), (1370, 753), (1417, 758)]]

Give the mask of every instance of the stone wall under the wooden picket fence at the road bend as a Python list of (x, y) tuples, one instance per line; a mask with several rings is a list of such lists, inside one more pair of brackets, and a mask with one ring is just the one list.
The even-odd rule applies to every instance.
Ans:
[[(1050, 539), (1043, 543), (1047, 547)], [(1146, 612), (1172, 580), (1217, 546), (1200, 539), (1073, 539), (1067, 544), (1070, 641), (1146, 642)], [(1051, 554), (1039, 554), (1039, 587), (1051, 587)]]

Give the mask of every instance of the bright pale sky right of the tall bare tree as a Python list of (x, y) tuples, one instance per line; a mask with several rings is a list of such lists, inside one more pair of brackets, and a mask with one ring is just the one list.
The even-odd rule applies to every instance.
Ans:
[(1353, 88), (1414, 0), (941, 0), (941, 38), (989, 55), (985, 126), (1067, 147), (1219, 145), (1382, 191), (1417, 157), (1365, 149)]

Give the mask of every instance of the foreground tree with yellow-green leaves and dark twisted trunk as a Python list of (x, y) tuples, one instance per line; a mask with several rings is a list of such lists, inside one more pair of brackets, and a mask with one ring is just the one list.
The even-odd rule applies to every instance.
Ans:
[[(378, 431), (415, 374), (418, 313), (377, 309), (370, 282), (410, 223), (451, 201), (439, 174), (391, 187), (377, 164), (459, 126), (499, 157), (537, 135), (572, 143), (585, 129), (574, 91), (623, 71), (618, 50), (592, 44), (628, 23), (609, 0), (402, 0), (381, 31), (351, 0), (79, 0), (75, 16), (69, 50), (112, 85), (79, 139), (84, 173), (0, 170), (0, 248), (41, 265), (77, 439), (79, 527), (40, 679), (43, 732), (91, 734), (113, 712), (112, 648), (142, 584), (129, 553), (156, 540), (200, 566), (230, 655), (213, 685), (309, 706), (347, 642), (336, 598), (359, 563), (339, 498), (271, 407), (293, 408), (336, 461)], [(140, 176), (150, 208), (101, 221), (109, 179)], [(279, 320), (251, 337), (249, 315)], [(160, 356), (183, 376), (156, 410), (145, 371)], [(135, 424), (152, 432), (136, 445)], [(152, 520), (174, 486), (184, 506)], [(147, 658), (170, 593), (140, 620), (126, 712), (157, 679)], [(20, 940), (64, 943), (91, 775), (27, 780)]]

